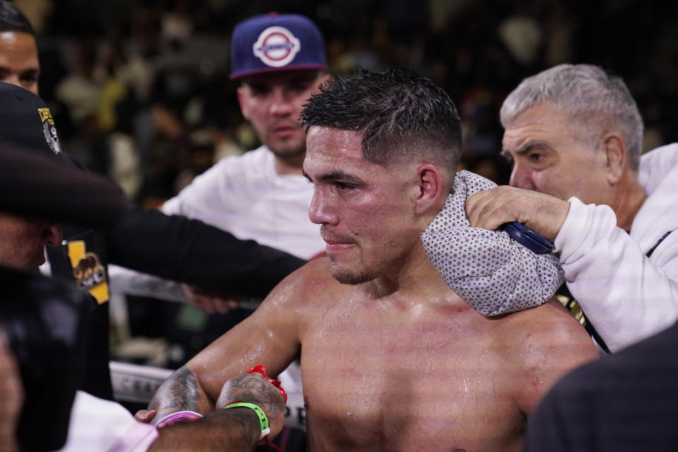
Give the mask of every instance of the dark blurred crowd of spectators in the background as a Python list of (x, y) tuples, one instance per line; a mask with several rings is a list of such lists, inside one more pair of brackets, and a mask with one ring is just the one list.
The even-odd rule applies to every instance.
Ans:
[[(595, 3), (595, 4), (594, 4)], [(326, 36), (329, 71), (406, 66), (462, 113), (463, 166), (498, 183), (498, 110), (522, 78), (562, 62), (624, 78), (645, 150), (678, 141), (678, 16), (638, 0), (17, 0), (37, 32), (40, 93), (64, 148), (157, 206), (225, 155), (256, 147), (228, 80), (239, 20), (303, 13)]]

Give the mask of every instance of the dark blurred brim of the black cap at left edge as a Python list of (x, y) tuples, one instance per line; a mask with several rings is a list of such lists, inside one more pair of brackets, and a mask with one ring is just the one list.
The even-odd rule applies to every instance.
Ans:
[(127, 206), (113, 182), (63, 158), (0, 144), (0, 210), (32, 218), (110, 227)]

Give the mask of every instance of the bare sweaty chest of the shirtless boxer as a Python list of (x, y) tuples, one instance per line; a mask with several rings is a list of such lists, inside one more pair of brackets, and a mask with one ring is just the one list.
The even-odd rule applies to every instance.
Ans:
[(509, 364), (468, 315), (475, 314), (335, 309), (323, 316), (302, 346), (311, 446), (451, 451), (501, 444), (520, 422), (501, 377)]

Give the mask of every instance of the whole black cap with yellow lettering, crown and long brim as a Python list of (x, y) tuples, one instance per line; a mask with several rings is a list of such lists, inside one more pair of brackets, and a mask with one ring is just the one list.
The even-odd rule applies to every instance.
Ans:
[(113, 225), (126, 208), (120, 189), (61, 155), (47, 105), (0, 83), (0, 210), (78, 225)]

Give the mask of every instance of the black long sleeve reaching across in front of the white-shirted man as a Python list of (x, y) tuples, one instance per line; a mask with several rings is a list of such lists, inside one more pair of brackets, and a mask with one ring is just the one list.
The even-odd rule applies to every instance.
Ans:
[(246, 297), (266, 297), (306, 263), (179, 215), (131, 206), (107, 234), (109, 262)]

